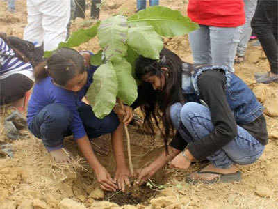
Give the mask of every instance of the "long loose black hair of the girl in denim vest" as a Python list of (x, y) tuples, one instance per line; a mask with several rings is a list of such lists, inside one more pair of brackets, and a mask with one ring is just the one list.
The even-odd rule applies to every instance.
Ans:
[[(173, 125), (170, 118), (170, 106), (176, 102), (184, 103), (184, 98), (181, 91), (181, 73), (183, 61), (177, 54), (169, 49), (162, 49), (159, 60), (148, 59), (139, 56), (136, 61), (136, 77), (142, 81), (140, 84), (141, 91), (144, 97), (140, 97), (140, 107), (145, 114), (144, 125), (154, 135), (153, 119), (158, 127), (159, 123), (163, 123), (163, 140), (166, 152), (168, 138), (170, 132), (173, 132)], [(144, 82), (144, 77), (156, 75), (161, 78), (163, 71), (161, 68), (167, 68), (168, 76), (165, 77), (165, 86), (162, 91), (155, 91), (152, 84)]]

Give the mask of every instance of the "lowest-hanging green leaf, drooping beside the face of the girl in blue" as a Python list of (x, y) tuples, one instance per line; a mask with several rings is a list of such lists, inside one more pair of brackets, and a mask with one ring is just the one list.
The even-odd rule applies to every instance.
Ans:
[(92, 104), (97, 118), (104, 118), (111, 113), (117, 96), (117, 75), (111, 62), (102, 64), (94, 73), (86, 98)]

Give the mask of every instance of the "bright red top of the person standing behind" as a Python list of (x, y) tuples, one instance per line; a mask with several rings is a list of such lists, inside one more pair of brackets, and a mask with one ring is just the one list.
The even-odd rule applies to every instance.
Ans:
[(243, 0), (189, 0), (188, 17), (207, 26), (236, 27), (245, 23)]

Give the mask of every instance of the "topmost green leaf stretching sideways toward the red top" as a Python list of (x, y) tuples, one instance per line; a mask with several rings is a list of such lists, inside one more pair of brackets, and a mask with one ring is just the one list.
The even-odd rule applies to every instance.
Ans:
[(140, 10), (129, 17), (128, 22), (129, 26), (152, 25), (156, 33), (165, 37), (181, 36), (199, 28), (189, 17), (163, 6), (150, 6)]

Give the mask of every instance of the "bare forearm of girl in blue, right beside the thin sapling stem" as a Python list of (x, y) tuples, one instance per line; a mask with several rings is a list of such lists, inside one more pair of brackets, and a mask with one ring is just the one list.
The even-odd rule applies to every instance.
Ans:
[(123, 140), (123, 129), (124, 124), (120, 123), (117, 129), (111, 134), (111, 143), (117, 168), (125, 167), (125, 156), (124, 156), (124, 140)]

